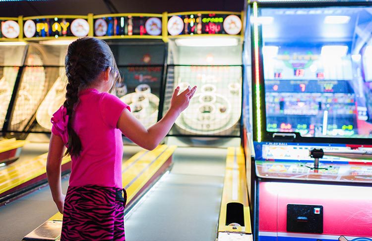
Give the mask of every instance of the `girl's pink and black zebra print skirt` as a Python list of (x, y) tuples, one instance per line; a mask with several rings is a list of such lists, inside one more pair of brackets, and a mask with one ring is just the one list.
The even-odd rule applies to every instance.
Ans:
[(61, 241), (125, 241), (124, 189), (68, 187)]

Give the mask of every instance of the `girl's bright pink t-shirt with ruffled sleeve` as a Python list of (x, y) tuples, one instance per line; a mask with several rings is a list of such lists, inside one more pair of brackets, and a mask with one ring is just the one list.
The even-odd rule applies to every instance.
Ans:
[[(71, 158), (70, 186), (123, 188), (123, 139), (117, 123), (124, 108), (130, 111), (127, 104), (109, 93), (96, 89), (79, 92), (72, 128), (80, 138), (82, 149), (79, 156)], [(68, 117), (61, 106), (52, 118), (52, 133), (62, 137), (65, 144)]]

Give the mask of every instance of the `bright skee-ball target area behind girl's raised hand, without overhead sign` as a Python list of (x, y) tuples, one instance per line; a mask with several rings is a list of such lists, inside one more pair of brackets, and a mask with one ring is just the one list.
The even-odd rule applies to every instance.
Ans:
[(164, 111), (169, 108), (174, 88), (198, 87), (171, 135), (239, 135), (242, 108), (239, 38), (170, 40), (166, 81)]

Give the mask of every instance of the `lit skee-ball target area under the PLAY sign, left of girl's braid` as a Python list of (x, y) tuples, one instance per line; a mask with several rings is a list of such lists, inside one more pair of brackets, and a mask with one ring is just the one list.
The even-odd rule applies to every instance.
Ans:
[(64, 67), (50, 55), (62, 56), (66, 48), (30, 44), (7, 132), (50, 132), (50, 117), (63, 104), (66, 84)]

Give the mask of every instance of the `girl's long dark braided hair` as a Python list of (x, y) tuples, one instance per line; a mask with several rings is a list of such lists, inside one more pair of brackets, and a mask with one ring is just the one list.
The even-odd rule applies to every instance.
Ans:
[[(114, 78), (120, 78), (117, 74), (118, 67), (110, 47), (103, 40), (96, 38), (80, 38), (72, 42), (67, 49), (64, 60), (67, 86), (66, 100), (63, 106), (67, 110), (68, 142), (65, 155), (79, 155), (82, 149), (79, 136), (72, 128), (74, 107), (79, 100), (78, 92), (93, 84), (98, 75), (111, 67)], [(116, 80), (118, 81), (118, 79)]]

